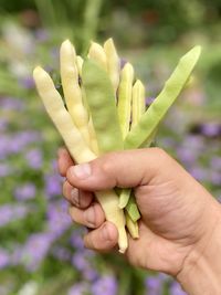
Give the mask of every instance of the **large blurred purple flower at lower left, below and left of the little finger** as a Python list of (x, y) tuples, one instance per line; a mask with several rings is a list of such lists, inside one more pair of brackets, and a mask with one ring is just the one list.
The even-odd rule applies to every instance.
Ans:
[(27, 270), (33, 272), (39, 268), (52, 242), (53, 238), (48, 232), (34, 233), (29, 236), (21, 254), (21, 262)]

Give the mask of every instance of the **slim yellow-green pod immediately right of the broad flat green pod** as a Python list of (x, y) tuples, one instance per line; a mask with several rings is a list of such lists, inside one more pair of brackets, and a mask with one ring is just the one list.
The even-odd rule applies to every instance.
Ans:
[(120, 81), (118, 88), (118, 105), (117, 105), (119, 124), (124, 139), (129, 131), (129, 125), (130, 125), (133, 81), (134, 81), (134, 69), (130, 63), (126, 63), (120, 72)]

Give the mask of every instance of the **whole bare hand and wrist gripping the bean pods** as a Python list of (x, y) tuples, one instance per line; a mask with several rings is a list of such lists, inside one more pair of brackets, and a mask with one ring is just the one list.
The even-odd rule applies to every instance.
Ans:
[(59, 169), (66, 176), (63, 193), (71, 203), (70, 215), (92, 229), (84, 236), (86, 247), (106, 252), (117, 244), (117, 230), (105, 221), (92, 191), (133, 187), (141, 213), (140, 238), (129, 238), (125, 256), (135, 266), (172, 275), (189, 294), (207, 289), (197, 291), (191, 280), (196, 273), (196, 282), (206, 282), (201, 271), (206, 266), (199, 267), (198, 262), (212, 256), (210, 243), (220, 223), (220, 204), (168, 154), (159, 148), (112, 152), (80, 167), (61, 149)]

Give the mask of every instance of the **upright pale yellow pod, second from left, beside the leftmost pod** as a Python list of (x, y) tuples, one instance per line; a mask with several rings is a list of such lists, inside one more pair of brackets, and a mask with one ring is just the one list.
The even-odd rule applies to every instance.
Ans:
[(82, 101), (75, 60), (74, 46), (69, 40), (64, 41), (60, 50), (60, 69), (64, 97), (69, 113), (82, 133), (84, 140), (90, 146), (88, 114)]

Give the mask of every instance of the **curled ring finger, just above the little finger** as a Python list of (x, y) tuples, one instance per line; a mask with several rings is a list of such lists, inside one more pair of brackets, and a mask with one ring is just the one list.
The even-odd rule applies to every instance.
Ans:
[(105, 214), (102, 207), (94, 202), (87, 209), (78, 209), (76, 207), (71, 207), (69, 213), (74, 222), (83, 224), (91, 229), (96, 229), (105, 221)]

